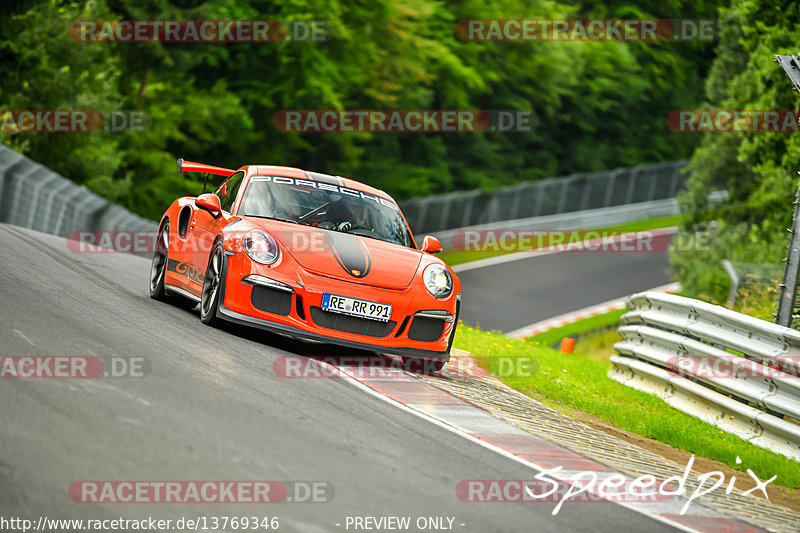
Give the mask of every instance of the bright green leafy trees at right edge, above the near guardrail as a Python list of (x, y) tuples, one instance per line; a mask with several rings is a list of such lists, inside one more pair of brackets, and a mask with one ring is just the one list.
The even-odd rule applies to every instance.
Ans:
[[(791, 110), (797, 93), (774, 61), (800, 49), (800, 5), (791, 0), (734, 0), (722, 16), (720, 43), (706, 82), (706, 108)], [(780, 265), (791, 226), (800, 137), (778, 132), (709, 133), (692, 158), (681, 197), (686, 233), (706, 232), (703, 246), (674, 251), (687, 293), (725, 301), (730, 281), (720, 262)], [(721, 202), (714, 190), (727, 191)], [(712, 221), (715, 221), (712, 224)], [(777, 271), (781, 271), (778, 266)]]

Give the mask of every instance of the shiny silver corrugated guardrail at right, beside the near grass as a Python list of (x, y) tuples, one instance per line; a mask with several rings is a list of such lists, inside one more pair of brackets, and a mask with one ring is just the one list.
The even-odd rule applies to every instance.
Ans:
[(627, 308), (609, 377), (800, 460), (800, 425), (787, 420), (800, 419), (800, 332), (659, 292)]

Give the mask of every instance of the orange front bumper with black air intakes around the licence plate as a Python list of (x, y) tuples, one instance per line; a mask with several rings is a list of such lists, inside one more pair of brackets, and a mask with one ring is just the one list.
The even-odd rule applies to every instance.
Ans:
[[(258, 284), (242, 281), (253, 275), (277, 284), (264, 290)], [(383, 289), (312, 274), (297, 264), (268, 267), (253, 262), (244, 253), (231, 252), (224, 257), (220, 288), (217, 314), (231, 322), (362, 350), (426, 360), (450, 359), (460, 299), (455, 294), (436, 299), (424, 287), (421, 291), (413, 285), (405, 290)], [(390, 321), (323, 311), (320, 306), (324, 292), (391, 304)], [(275, 297), (265, 299), (264, 293)], [(420, 316), (420, 311), (439, 311), (449, 318), (432, 318), (435, 313)]]

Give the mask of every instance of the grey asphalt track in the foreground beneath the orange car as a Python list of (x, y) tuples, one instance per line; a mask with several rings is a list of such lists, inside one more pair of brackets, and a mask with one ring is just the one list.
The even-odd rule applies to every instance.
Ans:
[[(347, 516), (408, 515), (454, 516), (457, 531), (672, 530), (610, 503), (552, 516), (551, 503), (461, 502), (461, 480), (535, 472), (344, 380), (277, 377), (281, 355), (341, 350), (204, 326), (196, 310), (149, 298), (145, 258), (0, 230), (0, 355), (144, 357), (151, 367), (141, 378), (0, 380), (4, 517), (277, 516), (279, 531), (316, 532), (346, 531)], [(553, 259), (565, 268), (568, 257)], [(317, 480), (335, 492), (316, 504), (83, 504), (68, 495), (79, 480)]]

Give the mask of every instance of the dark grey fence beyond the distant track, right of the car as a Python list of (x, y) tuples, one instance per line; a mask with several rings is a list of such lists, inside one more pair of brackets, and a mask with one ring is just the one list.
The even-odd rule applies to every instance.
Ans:
[[(411, 198), (400, 207), (415, 234), (675, 198), (688, 160), (526, 181), (491, 192)], [(576, 228), (569, 228), (576, 229)]]

